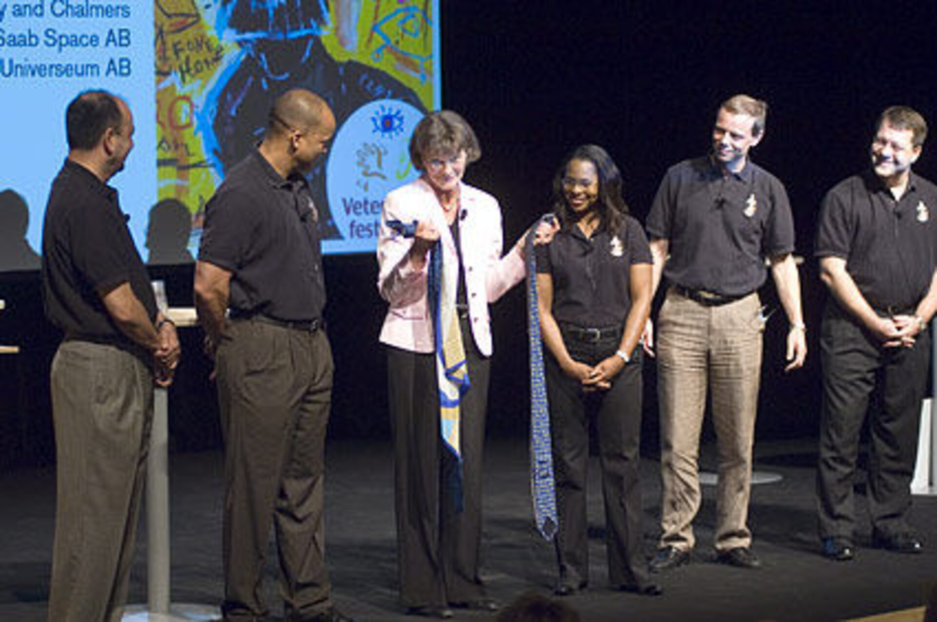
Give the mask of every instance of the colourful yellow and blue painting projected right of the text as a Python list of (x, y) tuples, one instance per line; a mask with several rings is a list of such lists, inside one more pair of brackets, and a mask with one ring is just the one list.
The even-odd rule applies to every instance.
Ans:
[[(415, 176), (406, 167), (401, 175), (391, 158), (406, 153), (413, 126), (439, 97), (434, 3), (157, 0), (156, 7), (158, 194), (191, 211), (190, 247), (225, 171), (260, 141), (270, 102), (303, 87), (325, 98), (338, 123), (331, 153), (309, 175), (324, 250), (373, 250), (379, 210), (365, 214), (362, 205), (389, 189), (379, 175), (396, 184)], [(377, 136), (376, 102), (395, 114)], [(364, 153), (380, 156), (363, 166)]]

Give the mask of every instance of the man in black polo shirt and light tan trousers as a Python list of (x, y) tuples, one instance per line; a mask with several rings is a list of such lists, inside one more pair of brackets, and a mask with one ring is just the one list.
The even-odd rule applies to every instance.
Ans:
[[(670, 281), (658, 318), (662, 536), (651, 570), (690, 560), (700, 507), (697, 455), (712, 390), (719, 444), (716, 541), (719, 561), (758, 568), (747, 526), (761, 378), (764, 318), (756, 290), (765, 259), (790, 320), (786, 369), (807, 355), (794, 222), (784, 186), (749, 159), (765, 135), (765, 102), (734, 96), (720, 106), (712, 152), (667, 171), (647, 217), (654, 289)], [(652, 333), (646, 346), (653, 346)]]

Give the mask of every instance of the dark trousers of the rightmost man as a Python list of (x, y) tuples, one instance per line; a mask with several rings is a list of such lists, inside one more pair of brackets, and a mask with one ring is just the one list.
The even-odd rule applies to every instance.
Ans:
[(820, 537), (855, 537), (853, 480), (867, 412), (872, 527), (885, 537), (910, 533), (906, 518), (930, 369), (930, 331), (917, 335), (914, 348), (882, 348), (830, 303), (820, 347), (824, 383), (817, 468)]

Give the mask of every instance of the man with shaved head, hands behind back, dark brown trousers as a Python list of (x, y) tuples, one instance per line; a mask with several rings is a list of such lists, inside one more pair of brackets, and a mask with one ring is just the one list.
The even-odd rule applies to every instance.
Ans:
[(349, 619), (333, 606), (322, 557), (333, 364), (319, 215), (304, 177), (334, 133), (319, 96), (278, 97), (263, 141), (205, 207), (195, 297), (225, 433), (226, 620), (267, 615), (271, 523), (286, 618)]

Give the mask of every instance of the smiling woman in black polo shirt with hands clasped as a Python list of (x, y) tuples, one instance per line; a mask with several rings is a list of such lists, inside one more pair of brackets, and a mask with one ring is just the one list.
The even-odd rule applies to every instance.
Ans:
[(621, 196), (621, 174), (596, 145), (576, 148), (554, 180), (560, 230), (539, 246), (537, 289), (559, 529), (556, 593), (588, 582), (588, 422), (596, 419), (608, 575), (619, 589), (661, 593), (641, 550), (641, 337), (651, 303), (651, 255)]

